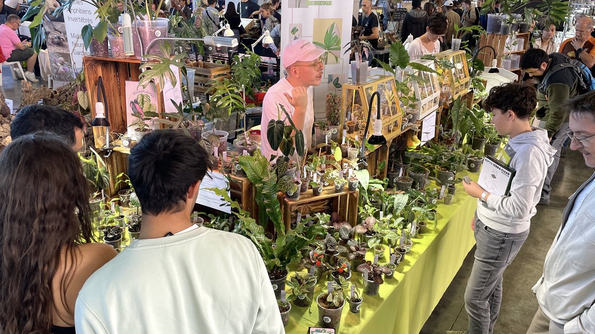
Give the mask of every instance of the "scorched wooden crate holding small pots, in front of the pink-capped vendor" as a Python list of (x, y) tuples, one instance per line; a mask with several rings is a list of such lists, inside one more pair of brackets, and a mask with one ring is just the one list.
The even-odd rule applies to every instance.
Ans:
[(292, 222), (296, 221), (296, 211), (301, 213), (302, 216), (313, 213), (337, 212), (351, 226), (355, 226), (358, 220), (358, 198), (359, 191), (348, 191), (346, 189), (337, 193), (333, 185), (324, 187), (319, 196), (314, 196), (312, 189), (308, 189), (308, 192), (302, 193), (297, 201), (290, 201), (283, 195), (278, 196), (286, 231), (290, 229)]

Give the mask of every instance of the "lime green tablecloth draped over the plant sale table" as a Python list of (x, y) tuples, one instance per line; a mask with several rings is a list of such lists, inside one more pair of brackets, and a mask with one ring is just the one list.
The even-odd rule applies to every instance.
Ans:
[[(477, 179), (477, 175), (469, 176)], [(346, 303), (338, 333), (419, 333), (475, 245), (471, 219), (477, 208), (477, 199), (466, 195), (462, 185), (457, 185), (457, 188), (452, 205), (439, 201), (437, 227), (428, 226), (428, 233), (412, 239), (411, 252), (397, 267), (394, 278), (385, 280), (380, 286), (378, 295), (364, 295), (358, 314), (350, 313)], [(367, 259), (373, 258), (373, 252), (368, 251)], [(351, 282), (361, 289), (361, 274), (354, 272)], [(322, 293), (323, 288), (325, 282), (317, 285), (314, 298)], [(308, 327), (318, 327), (317, 322), (316, 301), (309, 310), (292, 305), (285, 330), (289, 334), (306, 334)]]

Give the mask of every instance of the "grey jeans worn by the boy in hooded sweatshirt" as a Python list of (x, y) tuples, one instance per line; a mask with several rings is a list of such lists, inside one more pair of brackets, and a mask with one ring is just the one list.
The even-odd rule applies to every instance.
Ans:
[(465, 310), (469, 316), (468, 334), (492, 334), (502, 301), (502, 274), (522, 244), (529, 230), (504, 233), (491, 229), (475, 218), (475, 262), (465, 290)]

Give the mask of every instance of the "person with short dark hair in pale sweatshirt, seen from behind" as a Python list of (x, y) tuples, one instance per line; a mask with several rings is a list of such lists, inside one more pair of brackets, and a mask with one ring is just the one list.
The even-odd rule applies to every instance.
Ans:
[(155, 130), (131, 149), (140, 236), (84, 283), (77, 333), (284, 333), (250, 239), (190, 221), (209, 161), (177, 130)]

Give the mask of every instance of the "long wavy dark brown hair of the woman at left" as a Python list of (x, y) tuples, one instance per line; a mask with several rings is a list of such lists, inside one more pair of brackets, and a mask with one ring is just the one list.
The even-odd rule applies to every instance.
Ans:
[[(55, 137), (42, 132), (21, 136), (0, 154), (3, 334), (49, 333), (52, 279), (60, 259), (64, 252), (74, 258), (76, 244), (93, 241), (82, 165), (70, 146)], [(61, 295), (64, 300), (65, 286)]]

